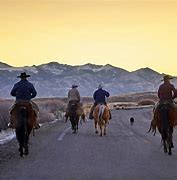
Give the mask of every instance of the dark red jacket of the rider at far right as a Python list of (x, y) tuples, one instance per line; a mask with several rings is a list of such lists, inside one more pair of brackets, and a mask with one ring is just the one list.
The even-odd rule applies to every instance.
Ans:
[(169, 101), (172, 102), (176, 97), (176, 90), (173, 84), (164, 82), (158, 89), (158, 97), (160, 102)]

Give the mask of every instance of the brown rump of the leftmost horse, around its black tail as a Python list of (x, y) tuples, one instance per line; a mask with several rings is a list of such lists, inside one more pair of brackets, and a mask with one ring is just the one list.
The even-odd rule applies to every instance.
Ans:
[(33, 105), (29, 101), (18, 101), (16, 102), (10, 110), (10, 121), (12, 128), (16, 129), (18, 127), (18, 118), (21, 108), (26, 109), (26, 118), (28, 126), (32, 129), (35, 125), (37, 114), (33, 110)]

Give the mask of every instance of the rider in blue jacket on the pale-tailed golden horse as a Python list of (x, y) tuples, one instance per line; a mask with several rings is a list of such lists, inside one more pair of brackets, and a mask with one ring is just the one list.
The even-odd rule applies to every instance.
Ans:
[[(104, 90), (103, 86), (99, 84), (98, 89), (93, 94), (93, 99), (95, 102), (94, 102), (94, 105), (90, 109), (89, 119), (93, 119), (93, 110), (97, 104), (107, 105), (105, 98), (109, 96), (110, 96), (109, 92)], [(109, 111), (109, 114), (110, 114), (110, 119), (112, 119), (110, 111)]]

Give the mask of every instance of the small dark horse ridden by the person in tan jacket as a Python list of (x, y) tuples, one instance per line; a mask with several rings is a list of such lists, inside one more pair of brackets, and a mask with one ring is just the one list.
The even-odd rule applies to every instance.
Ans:
[(78, 103), (73, 101), (69, 104), (69, 118), (74, 134), (78, 132), (79, 116), (80, 115), (78, 115)]

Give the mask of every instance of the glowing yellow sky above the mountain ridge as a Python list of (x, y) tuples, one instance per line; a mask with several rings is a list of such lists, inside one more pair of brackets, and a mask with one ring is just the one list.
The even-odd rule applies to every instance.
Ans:
[(177, 0), (0, 0), (0, 61), (177, 76)]

